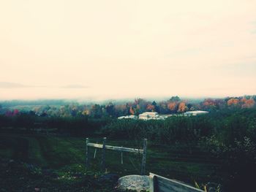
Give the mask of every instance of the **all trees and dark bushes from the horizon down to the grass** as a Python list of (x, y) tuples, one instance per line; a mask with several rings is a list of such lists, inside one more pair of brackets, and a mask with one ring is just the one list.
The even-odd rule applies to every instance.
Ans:
[[(13, 101), (15, 105), (7, 101), (0, 107), (0, 133), (108, 137), (132, 142), (147, 138), (151, 146), (165, 146), (189, 155), (197, 151), (212, 162), (218, 161), (220, 168), (211, 178), (220, 178), (218, 182), (230, 191), (246, 191), (245, 188), (254, 187), (256, 172), (255, 99), (256, 96), (241, 96), (191, 102), (173, 96), (157, 102), (135, 99), (116, 104), (68, 101), (24, 104)], [(146, 111), (168, 114), (189, 110), (209, 113), (192, 117), (173, 115), (165, 120), (116, 118)]]

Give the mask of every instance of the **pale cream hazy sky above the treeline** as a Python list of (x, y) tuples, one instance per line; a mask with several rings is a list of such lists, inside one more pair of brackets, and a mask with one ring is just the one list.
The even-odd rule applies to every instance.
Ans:
[(0, 99), (256, 94), (255, 0), (0, 0)]

